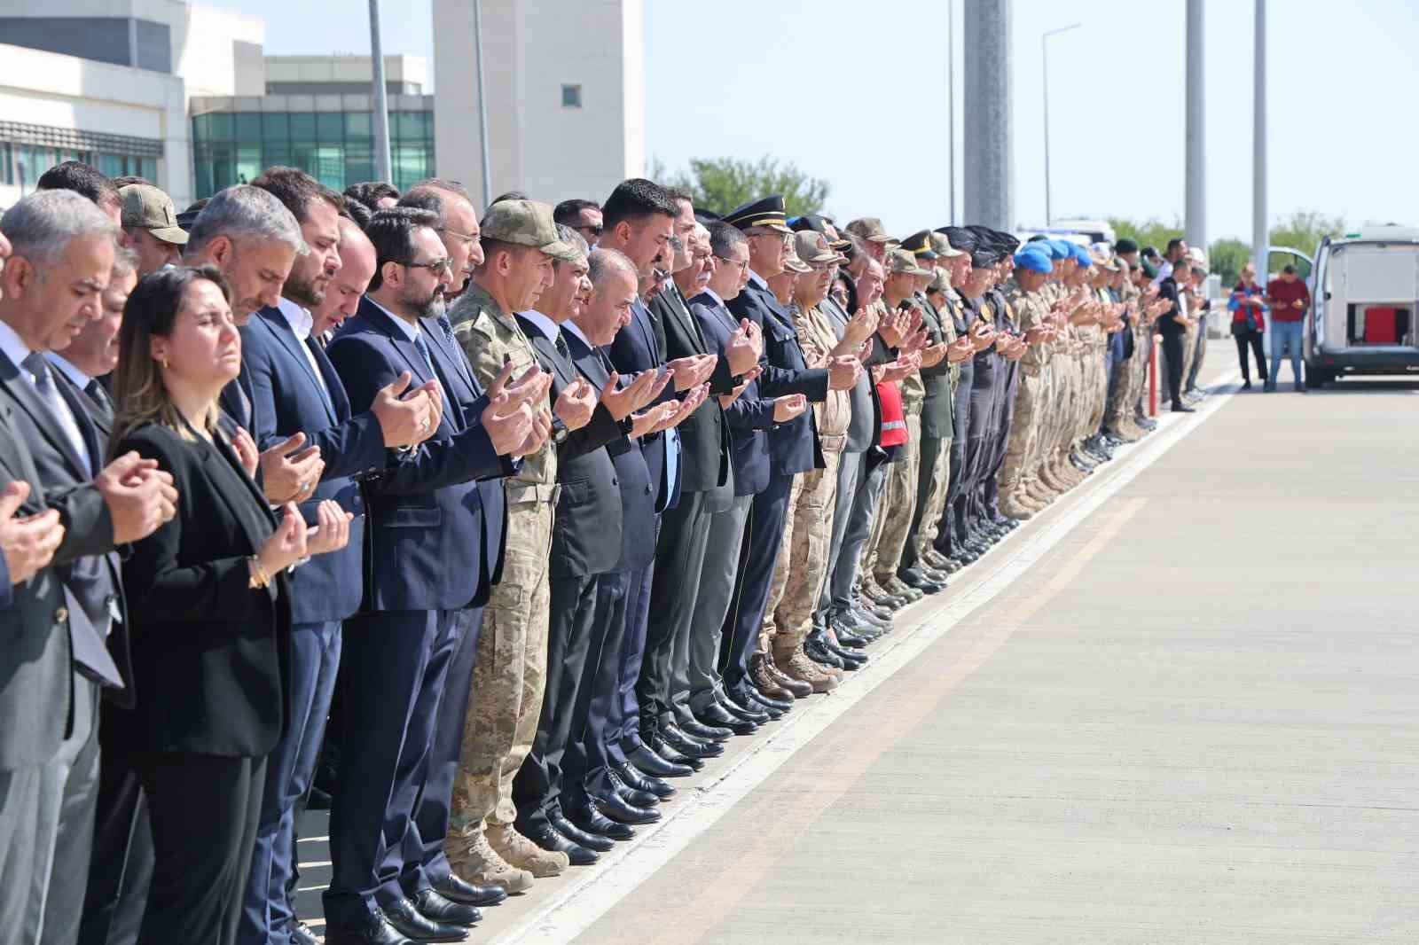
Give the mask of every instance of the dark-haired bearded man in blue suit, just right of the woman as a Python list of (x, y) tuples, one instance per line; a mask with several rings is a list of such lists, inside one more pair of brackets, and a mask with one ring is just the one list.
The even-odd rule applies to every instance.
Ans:
[[(350, 542), (319, 555), (291, 579), (291, 715), (267, 765), (255, 851), (247, 877), (237, 941), (263, 945), (291, 935), (295, 915), (287, 880), (295, 857), (295, 807), (311, 783), (325, 732), (341, 654), (341, 621), (355, 616), (363, 595), (365, 504), (362, 480), (385, 467), (385, 451), (414, 447), (433, 434), (438, 419), (437, 386), (424, 385), (400, 399), (407, 380), (382, 390), (368, 413), (353, 416), (345, 386), (312, 336), (311, 309), (341, 272), (345, 258), (368, 285), (375, 247), (363, 234), (342, 231), (343, 197), (302, 172), (274, 169), (253, 182), (295, 216), (311, 251), (298, 257), (275, 306), (263, 308), (241, 326), (241, 383), (251, 392), (257, 448), (297, 433), (321, 451), (325, 468), (301, 504), (307, 524), (316, 524), (325, 499), (353, 515)], [(342, 236), (350, 240), (342, 245)]]

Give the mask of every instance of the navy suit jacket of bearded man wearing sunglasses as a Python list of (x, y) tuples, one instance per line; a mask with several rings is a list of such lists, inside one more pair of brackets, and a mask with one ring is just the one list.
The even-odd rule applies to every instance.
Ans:
[[(484, 509), (478, 480), (509, 475), (480, 423), (487, 397), (473, 397), (467, 365), (450, 358), (437, 324), (423, 338), (438, 369), (444, 411), (434, 436), (409, 451), (389, 450), (366, 481), (368, 575), (363, 610), (455, 610), (487, 599), (501, 562), (502, 509)], [(433, 380), (404, 331), (369, 298), (345, 322), (326, 353), (352, 410), (365, 410), (403, 372)], [(441, 368), (438, 368), (441, 365)], [(498, 484), (501, 492), (501, 484)], [(497, 525), (497, 535), (492, 526)], [(494, 543), (495, 542), (495, 543)], [(492, 558), (492, 560), (490, 560)]]

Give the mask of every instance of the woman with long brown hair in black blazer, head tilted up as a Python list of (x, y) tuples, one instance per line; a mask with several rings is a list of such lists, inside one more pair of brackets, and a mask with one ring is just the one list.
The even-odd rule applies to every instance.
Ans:
[[(348, 518), (325, 502), (307, 529), (253, 481), (251, 437), (219, 424), (241, 336), (217, 270), (146, 277), (123, 309), (112, 450), (173, 475), (177, 515), (123, 565), (132, 711), (112, 712), (105, 756), (148, 793), (156, 864), (139, 942), (236, 939), (265, 756), (285, 724), (288, 570), (335, 551)], [(329, 508), (326, 508), (329, 507)]]

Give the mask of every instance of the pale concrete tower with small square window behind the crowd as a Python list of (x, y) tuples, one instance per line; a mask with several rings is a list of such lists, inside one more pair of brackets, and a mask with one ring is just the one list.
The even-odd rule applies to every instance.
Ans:
[[(480, 197), (478, 82), (471, 4), (434, 0), (438, 175)], [(491, 193), (604, 200), (644, 173), (641, 0), (484, 0)], [(562, 105), (579, 85), (580, 108)]]

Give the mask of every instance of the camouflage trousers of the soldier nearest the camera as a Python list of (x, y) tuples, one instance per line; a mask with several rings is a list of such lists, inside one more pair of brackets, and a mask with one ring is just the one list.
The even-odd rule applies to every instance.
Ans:
[[(546, 682), (549, 501), (508, 499), (502, 580), (482, 609), (478, 663), (453, 788), (448, 854), (457, 860), (484, 822), (511, 824), (512, 778), (532, 751)], [(457, 851), (457, 853), (455, 853)]]

